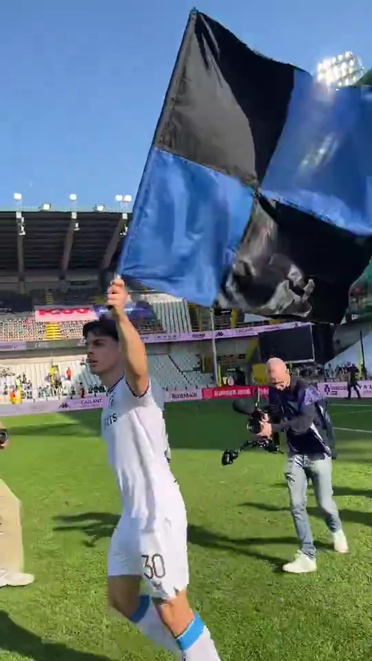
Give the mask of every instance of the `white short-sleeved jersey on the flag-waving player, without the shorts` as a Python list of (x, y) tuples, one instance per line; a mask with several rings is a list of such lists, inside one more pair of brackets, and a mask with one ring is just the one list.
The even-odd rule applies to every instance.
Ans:
[(182, 518), (185, 505), (165, 458), (163, 412), (151, 385), (143, 397), (136, 397), (122, 377), (107, 395), (102, 436), (121, 491), (123, 516), (142, 529)]

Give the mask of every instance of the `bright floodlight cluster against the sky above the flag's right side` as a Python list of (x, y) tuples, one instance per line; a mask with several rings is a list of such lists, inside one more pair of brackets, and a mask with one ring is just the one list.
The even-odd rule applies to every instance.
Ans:
[(363, 65), (360, 57), (355, 56), (350, 50), (325, 59), (318, 64), (316, 79), (328, 87), (349, 87), (356, 85), (363, 75)]

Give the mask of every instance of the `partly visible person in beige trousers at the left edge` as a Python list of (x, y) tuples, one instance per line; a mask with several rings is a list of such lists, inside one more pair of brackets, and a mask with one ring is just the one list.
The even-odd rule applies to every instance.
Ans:
[[(8, 445), (8, 432), (0, 422), (0, 450)], [(30, 585), (34, 577), (23, 574), (21, 503), (0, 480), (0, 587)]]

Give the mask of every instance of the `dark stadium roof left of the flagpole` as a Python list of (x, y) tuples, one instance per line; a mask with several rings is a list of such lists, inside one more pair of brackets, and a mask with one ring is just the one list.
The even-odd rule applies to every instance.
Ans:
[[(121, 211), (0, 211), (0, 275), (114, 268), (125, 220)], [(75, 230), (78, 224), (79, 230)]]

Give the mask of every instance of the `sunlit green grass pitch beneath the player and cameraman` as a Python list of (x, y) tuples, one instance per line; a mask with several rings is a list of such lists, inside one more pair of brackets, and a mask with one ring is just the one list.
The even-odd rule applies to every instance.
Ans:
[[(370, 661), (372, 658), (372, 406), (333, 405), (335, 494), (351, 553), (337, 556), (318, 516), (318, 572), (280, 571), (296, 551), (283, 457), (247, 452), (230, 403), (167, 408), (173, 470), (189, 516), (190, 598), (223, 661)], [(28, 571), (36, 583), (0, 591), (1, 661), (163, 660), (167, 655), (105, 607), (107, 544), (116, 487), (99, 439), (99, 413), (13, 419), (0, 474), (23, 501)]]

